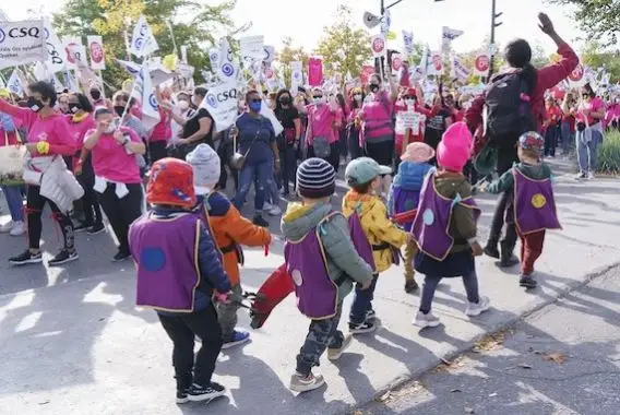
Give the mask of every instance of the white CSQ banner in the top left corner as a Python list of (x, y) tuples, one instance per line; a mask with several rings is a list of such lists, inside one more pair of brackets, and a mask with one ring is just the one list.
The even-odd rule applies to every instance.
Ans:
[(0, 23), (0, 69), (46, 60), (43, 20)]

